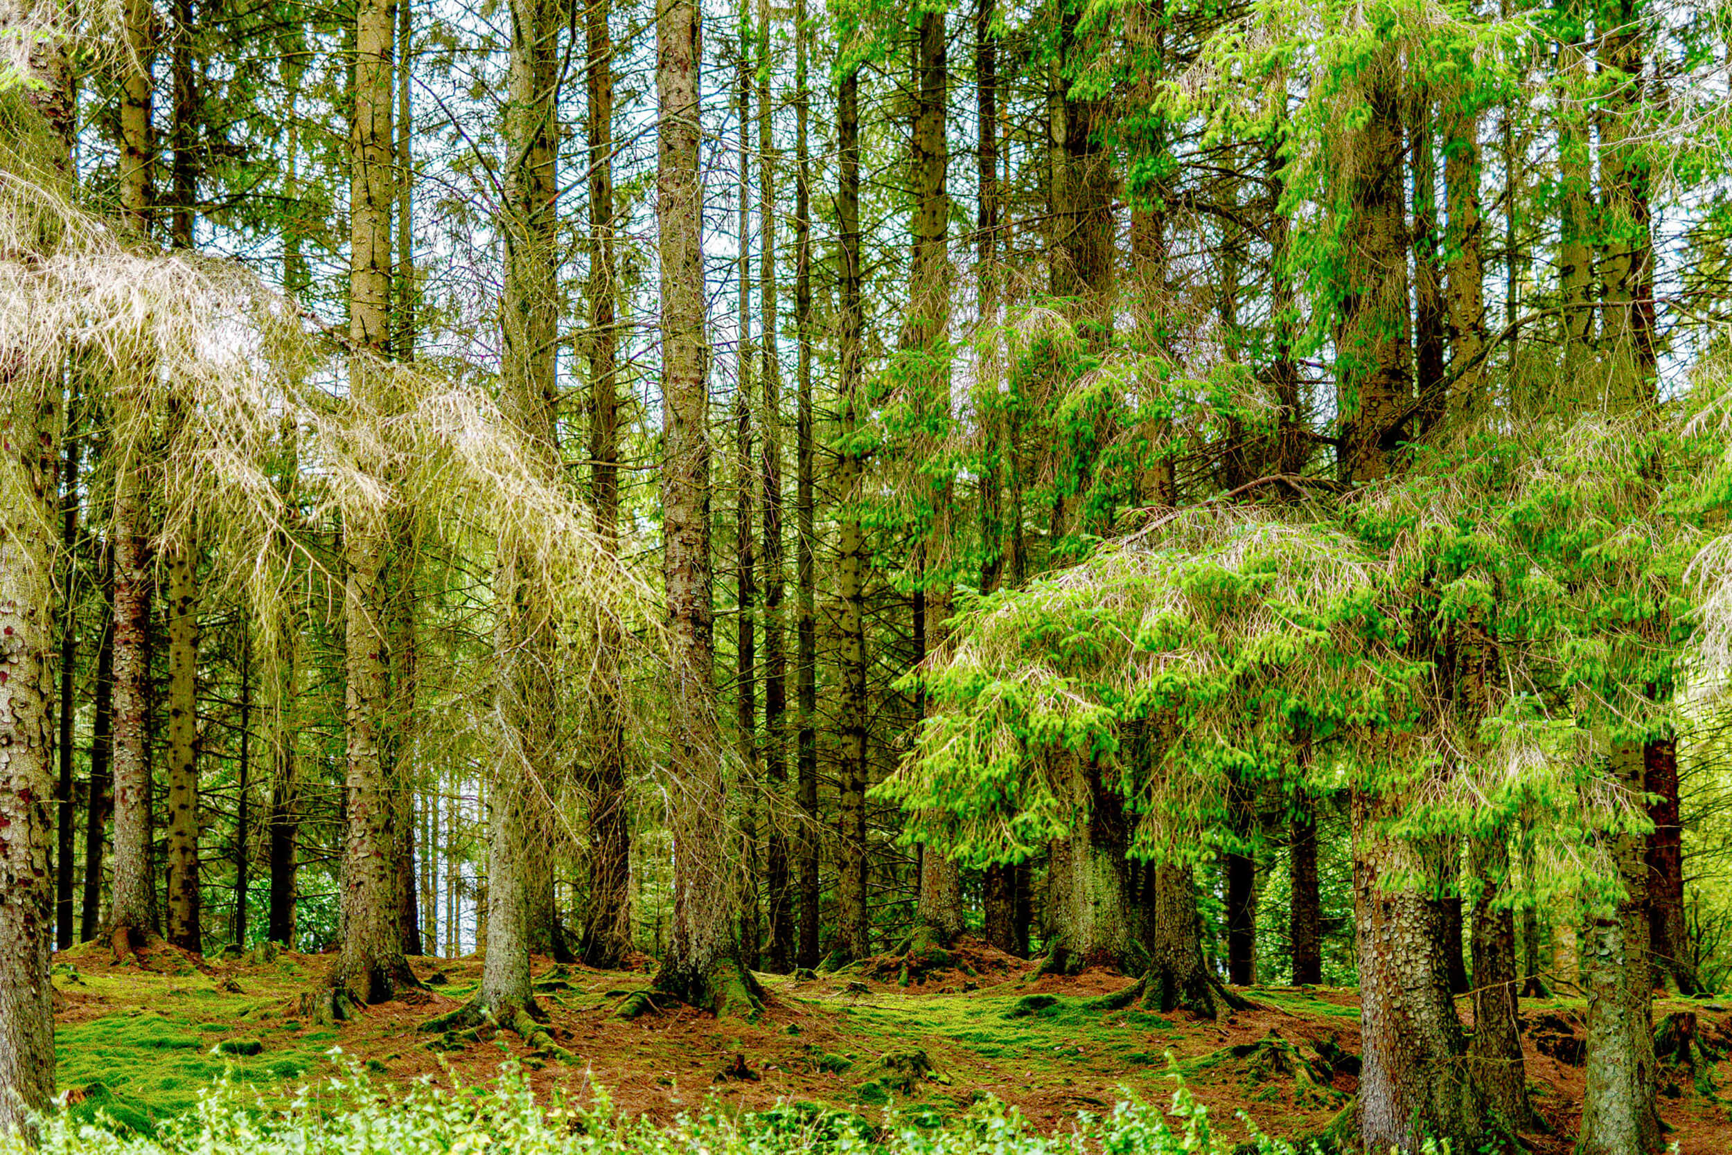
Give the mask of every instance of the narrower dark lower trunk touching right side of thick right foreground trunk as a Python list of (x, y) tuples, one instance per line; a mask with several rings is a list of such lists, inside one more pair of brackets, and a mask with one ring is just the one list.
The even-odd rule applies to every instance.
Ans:
[(1486, 1103), (1514, 1131), (1543, 1127), (1528, 1101), (1528, 1068), (1516, 1018), (1516, 913), (1505, 904), (1510, 854), (1502, 835), (1472, 838), (1469, 869), (1479, 881), (1474, 900), (1474, 1037), (1469, 1060)]

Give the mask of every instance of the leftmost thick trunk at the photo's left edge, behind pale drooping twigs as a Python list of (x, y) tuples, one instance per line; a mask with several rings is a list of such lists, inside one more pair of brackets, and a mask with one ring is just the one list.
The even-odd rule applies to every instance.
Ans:
[[(50, 165), (71, 192), (71, 62), (61, 9), (0, 0), (0, 28), (16, 36), (9, 55), (23, 85), (10, 132)], [(10, 152), (10, 149), (9, 149)], [(16, 194), (14, 194), (16, 196)], [(24, 232), (19, 229), (17, 232)], [(52, 239), (19, 237), (14, 260), (52, 256)], [(59, 500), (61, 358), (0, 352), (0, 1136), (33, 1138), (29, 1115), (54, 1096), (54, 514)]]

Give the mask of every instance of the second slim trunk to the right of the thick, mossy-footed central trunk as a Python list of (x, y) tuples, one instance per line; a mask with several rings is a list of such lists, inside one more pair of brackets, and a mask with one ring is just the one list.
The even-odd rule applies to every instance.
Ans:
[(776, 343), (776, 139), (772, 132), (769, 0), (759, 0), (759, 384), (764, 391), (764, 774), (769, 798), (764, 888), (769, 923), (766, 968), (781, 975), (793, 959), (793, 902), (788, 887), (788, 835), (783, 800), (788, 791), (788, 653), (783, 629), (783, 497), (781, 497), (781, 353)]

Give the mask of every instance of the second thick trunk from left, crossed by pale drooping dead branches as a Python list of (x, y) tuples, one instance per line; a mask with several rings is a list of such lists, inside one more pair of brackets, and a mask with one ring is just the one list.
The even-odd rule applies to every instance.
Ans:
[[(154, 12), (145, 0), (126, 5), (126, 74), (121, 90), (121, 208), (137, 236), (151, 229), (151, 73)], [(151, 871), (151, 760), (145, 741), (151, 663), (149, 365), (133, 365), (114, 390), (114, 880), (107, 933), (125, 954), (156, 930)]]

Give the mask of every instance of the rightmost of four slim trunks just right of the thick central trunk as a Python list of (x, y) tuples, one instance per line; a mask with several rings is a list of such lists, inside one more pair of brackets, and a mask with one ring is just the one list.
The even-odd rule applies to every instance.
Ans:
[(861, 300), (861, 145), (859, 145), (859, 69), (842, 76), (837, 88), (837, 135), (840, 182), (837, 189), (837, 232), (842, 267), (842, 332), (837, 341), (842, 393), (842, 452), (837, 457), (838, 511), (837, 552), (840, 575), (837, 596), (842, 601), (842, 829), (838, 840), (837, 902), (840, 921), (838, 952), (847, 958), (871, 954), (871, 928), (866, 918), (866, 533), (861, 509), (866, 490), (866, 466), (857, 448), (859, 426), (866, 409), (861, 381), (866, 310)]

